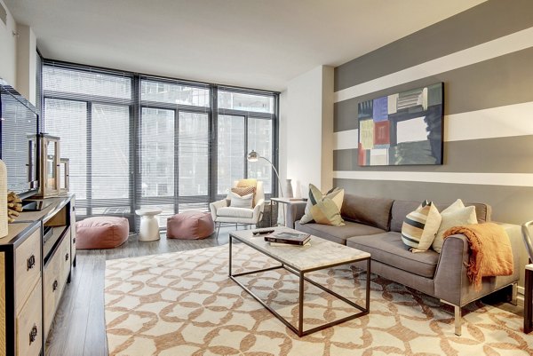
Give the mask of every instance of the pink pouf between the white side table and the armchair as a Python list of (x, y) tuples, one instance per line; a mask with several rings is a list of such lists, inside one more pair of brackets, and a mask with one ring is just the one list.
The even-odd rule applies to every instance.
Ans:
[(211, 214), (202, 211), (185, 211), (167, 218), (167, 238), (204, 239), (215, 231)]

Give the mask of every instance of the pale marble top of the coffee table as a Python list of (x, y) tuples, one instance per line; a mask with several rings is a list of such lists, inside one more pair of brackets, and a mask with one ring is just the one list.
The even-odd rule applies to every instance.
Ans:
[[(275, 228), (275, 231), (280, 230), (294, 231), (289, 227), (283, 226)], [(273, 256), (283, 264), (289, 265), (300, 272), (370, 258), (370, 253), (368, 252), (353, 249), (316, 236), (311, 236), (309, 246), (271, 246), (270, 242), (265, 241), (265, 235), (253, 236), (252, 231), (241, 230), (229, 234), (236, 240), (243, 241), (254, 249)]]

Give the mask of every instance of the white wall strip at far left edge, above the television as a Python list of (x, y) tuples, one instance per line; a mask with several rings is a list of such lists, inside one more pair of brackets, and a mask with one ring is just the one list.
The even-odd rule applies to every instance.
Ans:
[(16, 88), (17, 86), (17, 24), (3, 0), (0, 4), (7, 11), (7, 23), (0, 20), (0, 78)]

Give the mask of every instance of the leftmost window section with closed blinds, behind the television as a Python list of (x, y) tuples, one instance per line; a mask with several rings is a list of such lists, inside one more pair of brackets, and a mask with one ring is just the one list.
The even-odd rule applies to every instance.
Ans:
[(81, 216), (131, 213), (130, 76), (44, 66), (44, 131), (70, 159)]

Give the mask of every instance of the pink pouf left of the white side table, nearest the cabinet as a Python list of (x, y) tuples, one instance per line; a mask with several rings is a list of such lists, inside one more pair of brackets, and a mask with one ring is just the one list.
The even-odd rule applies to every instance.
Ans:
[(128, 240), (127, 218), (94, 217), (76, 222), (76, 249), (113, 249)]

